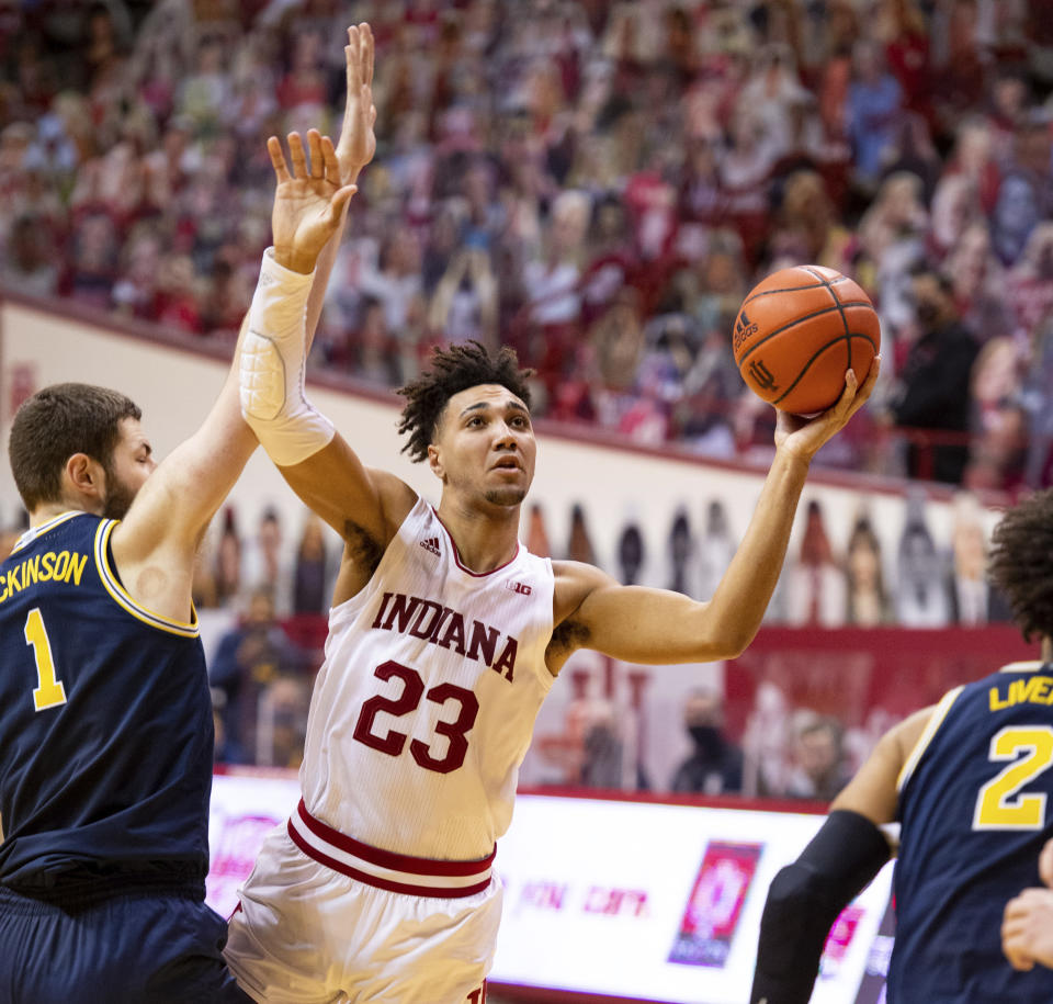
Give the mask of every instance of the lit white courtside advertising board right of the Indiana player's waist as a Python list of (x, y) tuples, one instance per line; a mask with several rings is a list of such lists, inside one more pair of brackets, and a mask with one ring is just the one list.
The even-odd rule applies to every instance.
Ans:
[[(490, 979), (645, 1001), (745, 1004), (768, 885), (822, 821), (521, 796), (498, 846), (505, 912)], [(833, 928), (814, 1004), (876, 1000), (858, 995), (875, 968), (871, 952), (891, 877), (890, 867)], [(880, 959), (876, 971), (880, 988)]]

